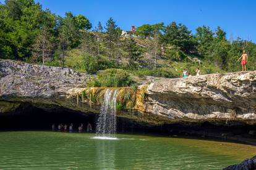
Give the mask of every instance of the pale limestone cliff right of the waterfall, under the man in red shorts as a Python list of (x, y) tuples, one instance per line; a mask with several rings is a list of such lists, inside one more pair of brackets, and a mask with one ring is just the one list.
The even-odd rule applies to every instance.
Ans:
[(164, 79), (147, 94), (146, 111), (169, 119), (256, 119), (256, 71)]

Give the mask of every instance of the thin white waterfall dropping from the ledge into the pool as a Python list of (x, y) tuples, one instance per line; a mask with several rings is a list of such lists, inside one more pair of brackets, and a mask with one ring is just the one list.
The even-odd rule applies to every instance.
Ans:
[(116, 95), (117, 89), (106, 89), (101, 104), (100, 116), (96, 123), (96, 137), (114, 138), (116, 134)]

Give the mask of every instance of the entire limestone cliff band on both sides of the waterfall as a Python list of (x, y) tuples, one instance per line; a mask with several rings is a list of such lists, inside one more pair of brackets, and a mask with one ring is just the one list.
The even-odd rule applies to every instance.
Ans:
[[(69, 68), (0, 60), (0, 113), (14, 111), (22, 103), (98, 113), (105, 88), (86, 88), (92, 78)], [(120, 95), (126, 93), (129, 109), (117, 115), (136, 121), (256, 122), (256, 71), (160, 79), (137, 90), (119, 90)]]

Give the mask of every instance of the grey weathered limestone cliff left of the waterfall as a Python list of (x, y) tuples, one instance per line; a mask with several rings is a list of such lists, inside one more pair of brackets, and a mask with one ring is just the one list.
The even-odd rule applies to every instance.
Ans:
[(0, 60), (0, 113), (15, 110), (24, 102), (40, 108), (72, 108), (66, 92), (85, 87), (91, 77), (69, 68)]

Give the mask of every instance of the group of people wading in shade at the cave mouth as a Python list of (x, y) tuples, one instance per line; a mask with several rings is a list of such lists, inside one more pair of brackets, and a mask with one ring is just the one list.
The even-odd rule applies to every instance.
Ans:
[[(69, 130), (69, 132), (72, 133), (73, 129), (74, 129), (73, 123), (70, 123), (69, 126), (67, 124), (64, 124), (64, 125), (63, 124), (58, 124), (57, 127), (55, 126), (55, 124), (52, 125), (52, 131), (67, 132)], [(88, 123), (86, 130), (87, 130), (87, 132), (92, 132), (92, 124)], [(77, 128), (77, 131), (79, 133), (85, 131), (82, 123)]]

